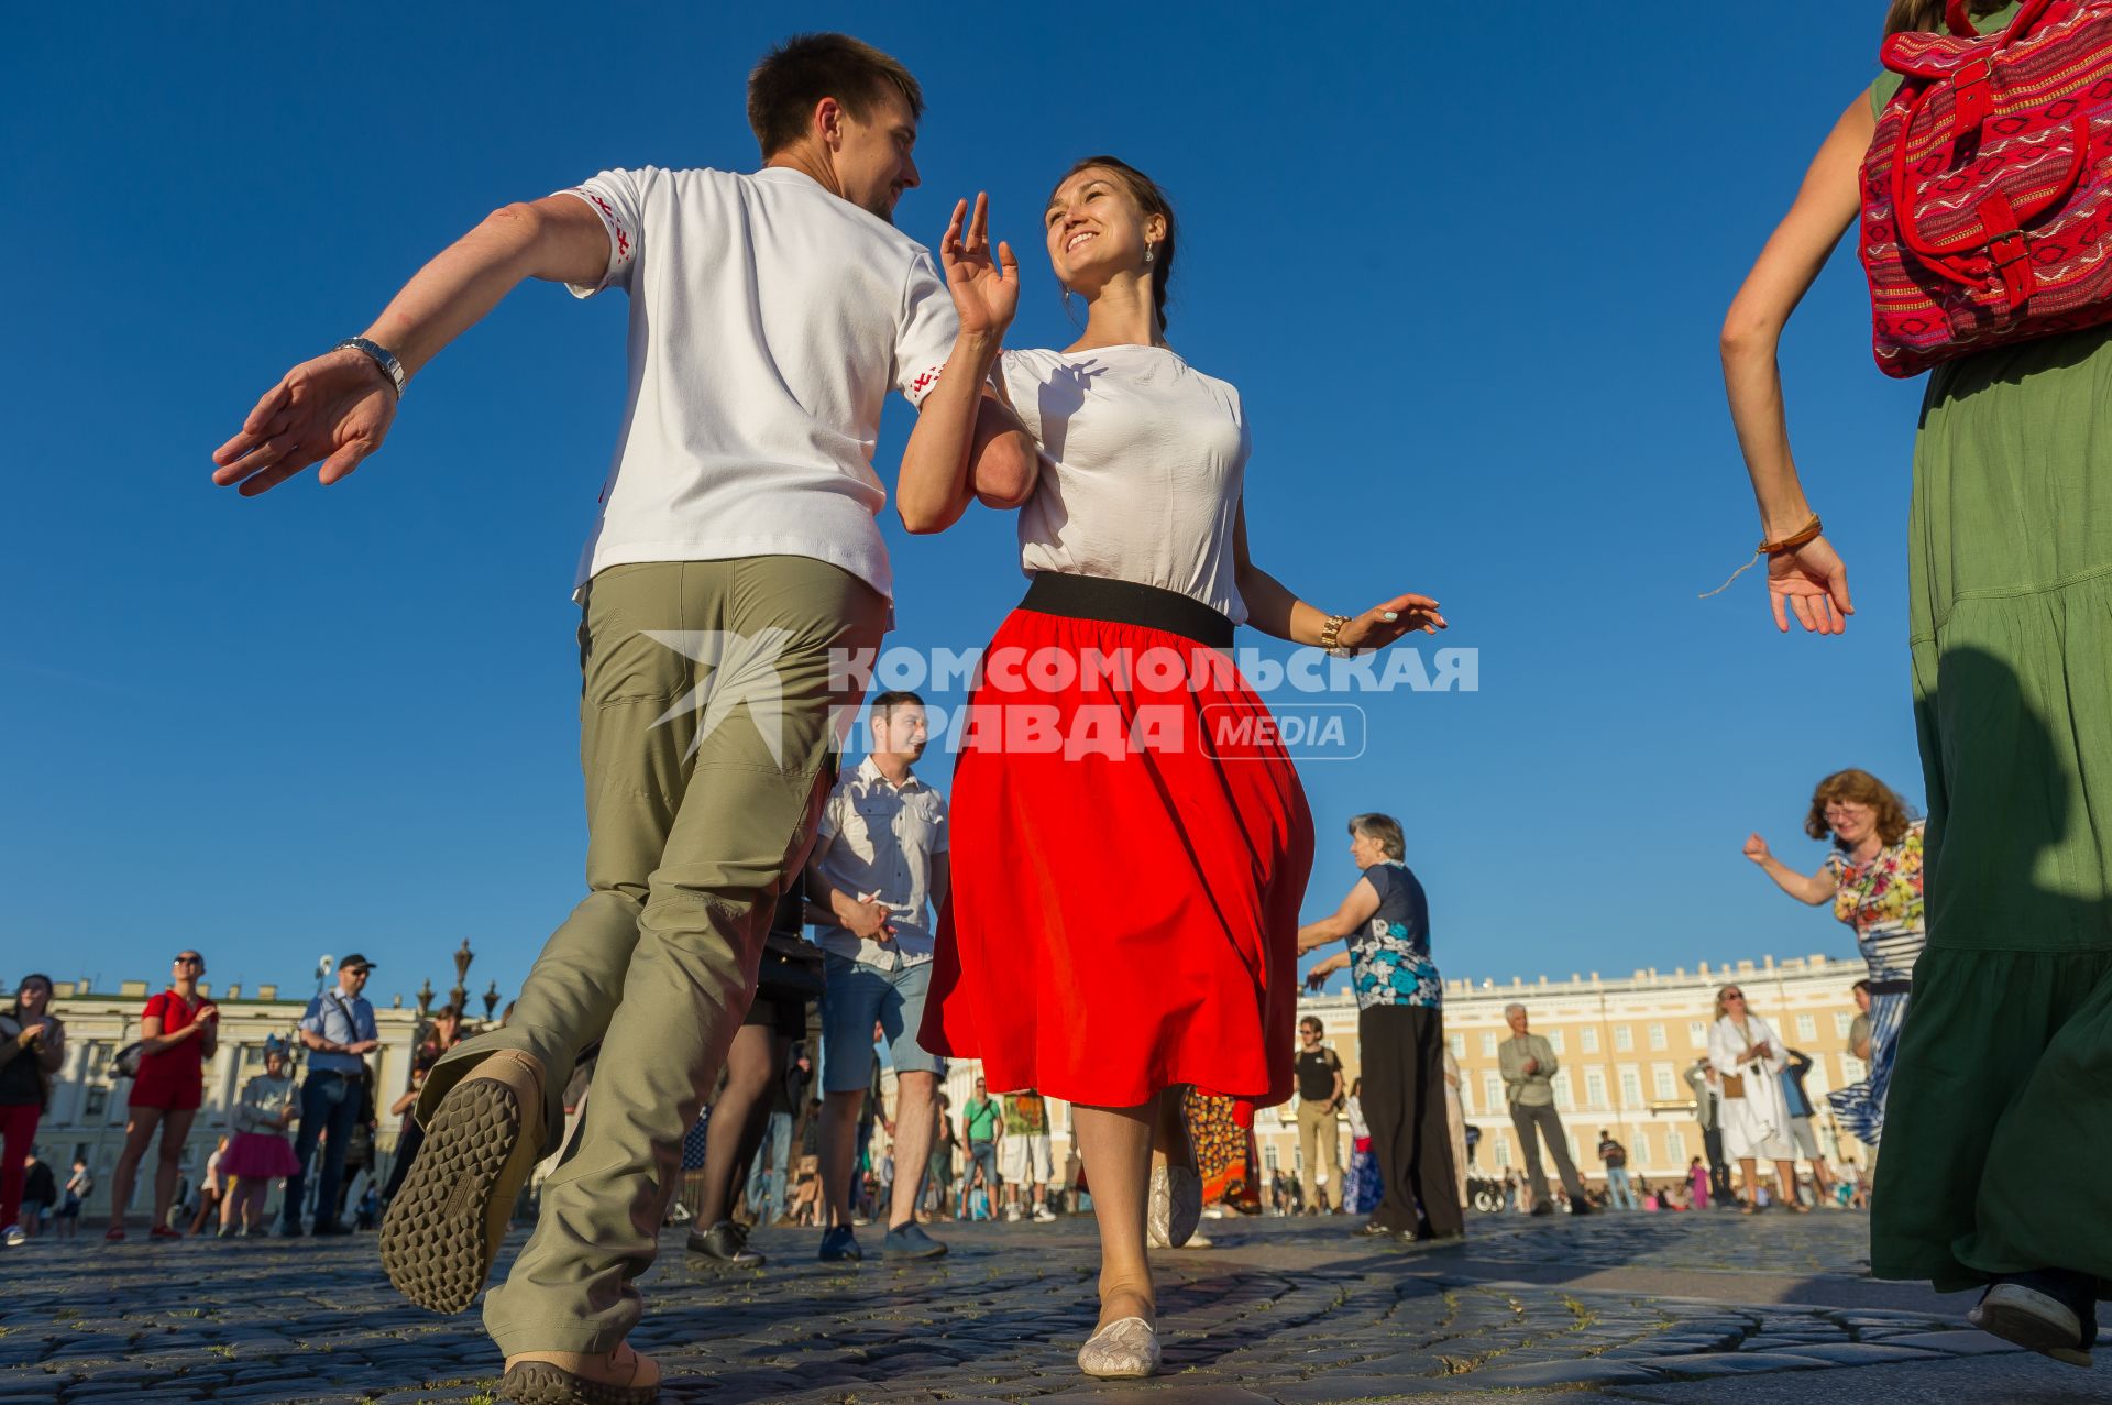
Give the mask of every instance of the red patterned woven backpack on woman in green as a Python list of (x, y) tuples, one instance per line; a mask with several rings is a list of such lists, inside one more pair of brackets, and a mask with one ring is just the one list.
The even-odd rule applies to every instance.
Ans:
[(1863, 161), (1878, 368), (2112, 321), (2112, 0), (2025, 0), (1981, 36), (1894, 34)]

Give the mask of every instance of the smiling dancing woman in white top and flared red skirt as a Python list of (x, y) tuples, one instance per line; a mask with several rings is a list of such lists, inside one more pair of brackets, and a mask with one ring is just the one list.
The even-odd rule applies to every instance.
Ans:
[[(1252, 564), (1240, 393), (1166, 344), (1174, 216), (1149, 177), (1094, 156), (1050, 196), (1050, 262), (1088, 311), (1067, 351), (1001, 351), (1018, 266), (1005, 245), (993, 258), (986, 213), (963, 201), (946, 230), (961, 336), (898, 505), (912, 532), (972, 497), (1018, 505), (1033, 585), (967, 712), (921, 1044), (982, 1059), (991, 1088), (1075, 1105), (1100, 1225), (1100, 1327), (1079, 1365), (1149, 1375), (1147, 1202), (1174, 1244), (1200, 1209), (1189, 1189), (1170, 1211), (1153, 1183), (1153, 1156), (1172, 1156), (1193, 1187), (1183, 1090), (1290, 1097), (1312, 816), (1231, 663), (1233, 627), (1345, 655), (1445, 621), (1426, 596), (1326, 615)], [(1037, 442), (1037, 480), (969, 482), (984, 393)]]

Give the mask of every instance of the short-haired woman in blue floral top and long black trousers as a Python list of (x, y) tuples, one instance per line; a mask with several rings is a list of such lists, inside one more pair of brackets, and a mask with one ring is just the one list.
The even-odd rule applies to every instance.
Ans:
[(1430, 959), (1430, 902), (1404, 856), (1392, 816), (1350, 820), (1350, 858), (1364, 877), (1333, 917), (1299, 932), (1299, 951), (1350, 942), (1307, 980), (1318, 987), (1347, 966), (1356, 987), (1360, 1103), (1383, 1192), (1362, 1232), (1455, 1240), (1466, 1236), (1466, 1219), (1445, 1120), (1445, 982)]

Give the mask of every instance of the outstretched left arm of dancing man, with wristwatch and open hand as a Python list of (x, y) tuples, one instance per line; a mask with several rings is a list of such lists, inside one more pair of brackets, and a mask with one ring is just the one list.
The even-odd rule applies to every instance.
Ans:
[[(522, 279), (591, 285), (606, 270), (608, 230), (579, 196), (507, 205), (420, 268), (365, 338), (416, 376)], [(317, 477), (334, 484), (382, 446), (395, 408), (395, 382), (378, 361), (351, 346), (327, 351), (281, 376), (243, 431), (213, 450), (213, 482), (256, 497), (321, 461)]]

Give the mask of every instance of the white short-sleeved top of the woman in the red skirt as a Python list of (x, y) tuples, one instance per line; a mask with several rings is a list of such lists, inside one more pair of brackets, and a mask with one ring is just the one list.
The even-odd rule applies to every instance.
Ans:
[(1020, 568), (1157, 585), (1246, 623), (1240, 391), (1164, 346), (1007, 351), (1001, 372), (1043, 456)]

